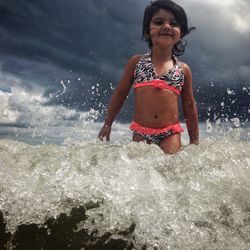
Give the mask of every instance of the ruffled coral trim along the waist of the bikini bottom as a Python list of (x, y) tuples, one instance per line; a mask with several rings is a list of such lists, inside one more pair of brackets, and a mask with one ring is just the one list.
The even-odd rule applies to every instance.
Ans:
[(139, 123), (133, 121), (129, 126), (129, 128), (134, 132), (147, 135), (159, 135), (168, 132), (170, 130), (180, 134), (181, 132), (184, 131), (179, 122), (173, 125), (169, 125), (165, 128), (148, 128), (148, 127), (143, 127)]

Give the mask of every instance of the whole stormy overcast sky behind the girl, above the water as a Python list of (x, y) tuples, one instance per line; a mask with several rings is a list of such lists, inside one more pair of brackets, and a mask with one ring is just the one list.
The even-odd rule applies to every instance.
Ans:
[[(196, 27), (181, 60), (193, 72), (200, 118), (247, 119), (250, 2), (176, 2)], [(26, 126), (48, 107), (76, 120), (79, 110), (104, 110), (128, 58), (148, 50), (141, 40), (147, 3), (0, 0), (0, 124)], [(130, 119), (132, 99), (120, 119)]]

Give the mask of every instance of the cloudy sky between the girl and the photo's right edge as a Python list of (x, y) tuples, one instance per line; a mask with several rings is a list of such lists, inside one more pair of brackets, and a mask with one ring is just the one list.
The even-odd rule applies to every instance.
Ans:
[(247, 1), (178, 1), (196, 27), (185, 60), (203, 118), (249, 118), (250, 28)]

